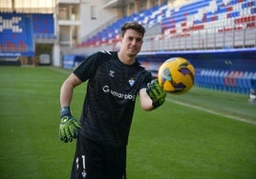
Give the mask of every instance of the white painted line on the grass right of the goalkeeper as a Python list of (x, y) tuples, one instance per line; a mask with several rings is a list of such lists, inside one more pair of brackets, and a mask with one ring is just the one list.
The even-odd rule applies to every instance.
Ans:
[(227, 118), (230, 118), (230, 119), (233, 119), (233, 120), (242, 121), (242, 122), (245, 122), (245, 123), (248, 123), (248, 124), (256, 125), (256, 121), (247, 120), (247, 119), (244, 119), (242, 117), (237, 117), (237, 116), (233, 116), (233, 115), (224, 114), (224, 113), (217, 112), (217, 111), (214, 111), (214, 110), (211, 110), (211, 109), (203, 109), (202, 107), (199, 107), (199, 106), (194, 106), (194, 105), (192, 106), (192, 105), (182, 103), (180, 101), (176, 101), (176, 100), (169, 99), (169, 98), (166, 98), (166, 100), (170, 101), (172, 103), (179, 104), (181, 106), (191, 108), (191, 109), (198, 109), (198, 110), (202, 110), (202, 111), (212, 113), (212, 114), (215, 114), (215, 115), (224, 116), (224, 117), (227, 117)]

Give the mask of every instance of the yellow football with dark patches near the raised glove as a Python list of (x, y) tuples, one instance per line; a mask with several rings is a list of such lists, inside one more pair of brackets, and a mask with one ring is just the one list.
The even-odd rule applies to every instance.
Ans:
[(166, 60), (159, 69), (160, 86), (167, 92), (183, 94), (194, 85), (195, 70), (192, 64), (181, 57)]

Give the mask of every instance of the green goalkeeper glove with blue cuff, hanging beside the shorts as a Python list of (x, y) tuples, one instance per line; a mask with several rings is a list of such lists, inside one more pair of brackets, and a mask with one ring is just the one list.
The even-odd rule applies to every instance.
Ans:
[(81, 129), (81, 124), (72, 116), (70, 108), (62, 108), (59, 125), (60, 140), (65, 143), (72, 142), (77, 137), (78, 129)]

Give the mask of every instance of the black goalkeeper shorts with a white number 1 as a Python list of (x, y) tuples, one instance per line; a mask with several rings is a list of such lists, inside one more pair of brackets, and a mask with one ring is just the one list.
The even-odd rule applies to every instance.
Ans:
[(125, 169), (126, 148), (100, 145), (79, 133), (71, 179), (125, 179)]

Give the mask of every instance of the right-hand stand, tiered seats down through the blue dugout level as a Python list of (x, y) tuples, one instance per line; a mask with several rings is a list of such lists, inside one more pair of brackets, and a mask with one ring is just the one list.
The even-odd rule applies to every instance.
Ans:
[[(254, 0), (194, 1), (175, 9), (163, 4), (118, 19), (77, 47), (90, 51), (111, 45), (112, 50), (117, 49), (120, 26), (127, 21), (138, 21), (147, 30), (139, 60), (153, 74), (157, 75), (160, 63), (170, 57), (167, 51), (180, 51), (171, 55), (191, 60), (199, 87), (244, 94), (256, 89), (256, 67), (250, 66), (256, 59)], [(205, 51), (207, 55), (203, 58)], [(212, 62), (205, 65), (205, 58)]]

